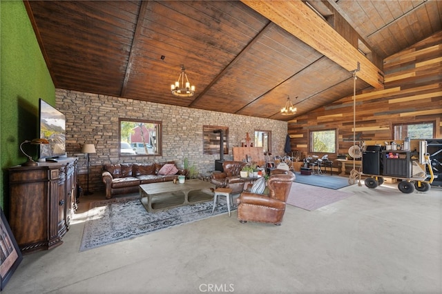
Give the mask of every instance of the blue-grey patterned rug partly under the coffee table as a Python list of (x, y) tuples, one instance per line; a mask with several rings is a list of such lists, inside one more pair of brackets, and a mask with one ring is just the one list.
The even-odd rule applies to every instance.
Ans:
[[(233, 206), (235, 210), (236, 203)], [(218, 206), (213, 214), (212, 208), (213, 201), (210, 201), (148, 213), (140, 202), (139, 195), (92, 202), (79, 251), (227, 213), (225, 198), (218, 198)]]

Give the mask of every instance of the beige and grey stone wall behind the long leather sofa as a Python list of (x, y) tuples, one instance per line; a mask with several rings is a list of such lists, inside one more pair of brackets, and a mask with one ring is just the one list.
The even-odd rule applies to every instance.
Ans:
[[(287, 122), (272, 119), (231, 115), (194, 108), (184, 108), (146, 101), (90, 94), (71, 90), (56, 90), (57, 108), (66, 115), (66, 152), (79, 157), (78, 178), (86, 190), (86, 158), (81, 154), (85, 143), (95, 144), (96, 154), (90, 155), (89, 190), (104, 190), (102, 166), (109, 163), (175, 161), (183, 167), (184, 158), (195, 164), (200, 173), (215, 169), (215, 159), (220, 155), (203, 154), (202, 126), (229, 127), (229, 154), (238, 147), (246, 133), (271, 130), (273, 155), (285, 155), (284, 145)], [(149, 119), (162, 121), (162, 156), (119, 157), (118, 119)]]

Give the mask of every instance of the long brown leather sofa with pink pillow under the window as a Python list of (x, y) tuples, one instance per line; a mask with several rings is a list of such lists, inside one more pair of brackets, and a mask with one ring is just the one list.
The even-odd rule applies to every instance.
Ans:
[(140, 184), (169, 182), (178, 175), (187, 175), (185, 169), (178, 169), (175, 175), (159, 175), (158, 172), (164, 164), (175, 164), (175, 162), (106, 164), (102, 173), (103, 183), (106, 186), (106, 199), (110, 199), (113, 195), (137, 193), (140, 190)]

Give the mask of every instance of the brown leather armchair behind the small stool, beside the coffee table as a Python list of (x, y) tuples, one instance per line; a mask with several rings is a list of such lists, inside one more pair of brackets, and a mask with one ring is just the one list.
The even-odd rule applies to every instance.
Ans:
[(245, 179), (239, 177), (242, 167), (247, 165), (243, 161), (223, 161), (222, 173), (212, 173), (210, 182), (216, 186), (216, 188), (231, 188), (232, 194), (241, 193), (244, 190)]

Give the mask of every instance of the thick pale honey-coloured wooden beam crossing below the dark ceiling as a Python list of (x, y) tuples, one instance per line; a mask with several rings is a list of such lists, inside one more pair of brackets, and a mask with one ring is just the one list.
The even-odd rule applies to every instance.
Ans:
[(376, 89), (383, 88), (382, 70), (302, 1), (241, 1), (346, 70), (356, 70), (359, 62), (357, 77)]

